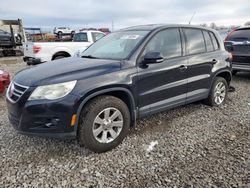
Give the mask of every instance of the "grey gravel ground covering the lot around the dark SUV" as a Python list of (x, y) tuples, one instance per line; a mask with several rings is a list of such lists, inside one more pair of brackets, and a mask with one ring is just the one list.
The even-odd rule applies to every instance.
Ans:
[[(0, 59), (0, 67), (13, 74), (25, 64)], [(17, 134), (2, 97), (0, 187), (250, 187), (250, 74), (232, 85), (223, 107), (195, 103), (140, 120), (103, 154)]]

